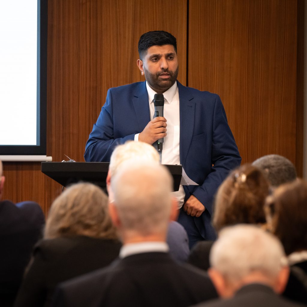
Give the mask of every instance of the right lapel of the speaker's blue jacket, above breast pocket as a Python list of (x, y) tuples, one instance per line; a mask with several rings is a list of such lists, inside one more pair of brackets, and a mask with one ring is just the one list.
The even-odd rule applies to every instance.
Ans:
[(180, 110), (180, 163), (185, 166), (185, 159), (190, 148), (195, 119), (195, 102), (187, 87), (178, 81)]

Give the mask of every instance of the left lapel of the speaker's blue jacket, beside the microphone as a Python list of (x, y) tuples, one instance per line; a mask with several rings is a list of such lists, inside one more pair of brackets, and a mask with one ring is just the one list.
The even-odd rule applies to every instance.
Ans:
[(132, 98), (134, 111), (138, 120), (139, 131), (142, 132), (148, 122), (150, 122), (150, 111), (146, 82), (139, 84)]

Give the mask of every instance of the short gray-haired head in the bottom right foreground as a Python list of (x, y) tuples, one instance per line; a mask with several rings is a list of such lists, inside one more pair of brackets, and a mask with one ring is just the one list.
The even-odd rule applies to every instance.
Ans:
[(210, 265), (232, 284), (258, 272), (274, 281), (285, 265), (280, 241), (254, 225), (225, 227), (210, 252)]

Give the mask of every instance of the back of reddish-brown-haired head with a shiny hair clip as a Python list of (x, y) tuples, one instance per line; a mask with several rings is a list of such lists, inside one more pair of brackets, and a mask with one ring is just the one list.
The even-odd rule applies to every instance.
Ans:
[(213, 225), (217, 231), (239, 223), (265, 223), (269, 183), (262, 171), (245, 164), (231, 172), (217, 191)]

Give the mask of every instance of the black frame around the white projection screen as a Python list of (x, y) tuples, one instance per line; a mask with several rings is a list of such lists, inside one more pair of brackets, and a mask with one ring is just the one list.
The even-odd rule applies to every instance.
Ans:
[[(46, 155), (48, 0), (37, 0), (37, 144), (0, 145), (0, 155)], [(38, 128), (39, 127), (39, 128)]]

